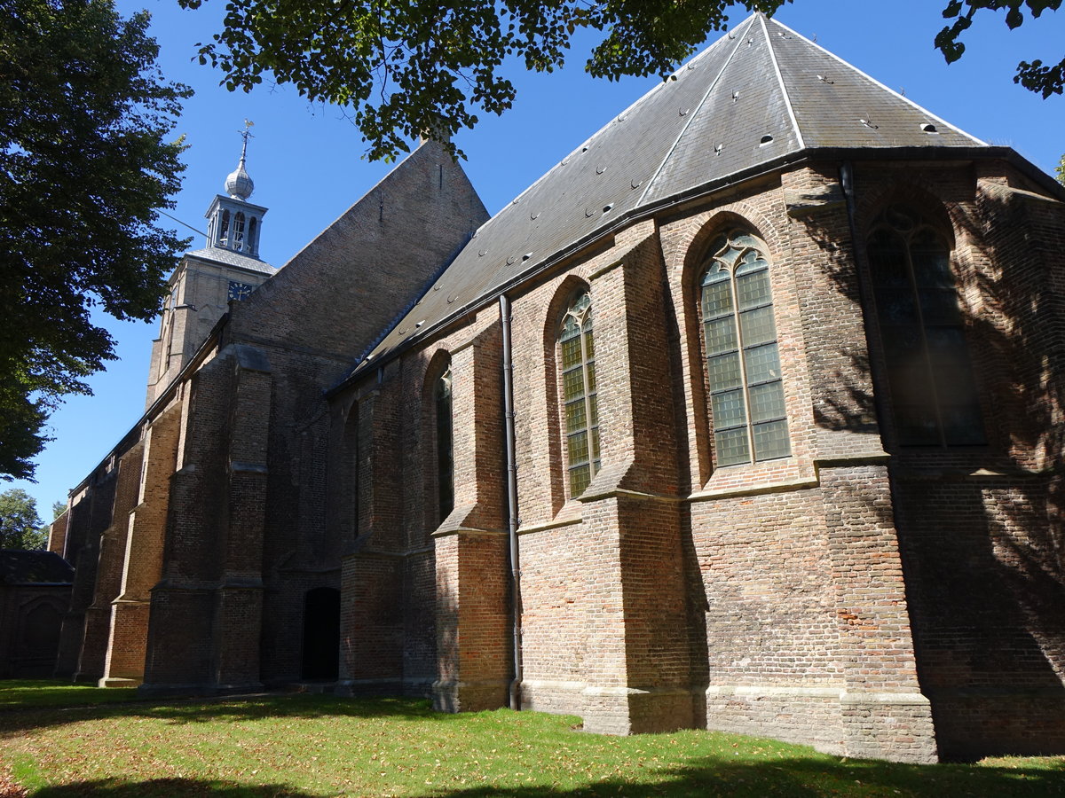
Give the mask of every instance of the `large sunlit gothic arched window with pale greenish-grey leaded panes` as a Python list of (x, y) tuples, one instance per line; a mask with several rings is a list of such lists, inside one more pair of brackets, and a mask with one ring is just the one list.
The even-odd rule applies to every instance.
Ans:
[(703, 272), (703, 336), (719, 466), (791, 453), (766, 249), (759, 238), (733, 231), (714, 242)]

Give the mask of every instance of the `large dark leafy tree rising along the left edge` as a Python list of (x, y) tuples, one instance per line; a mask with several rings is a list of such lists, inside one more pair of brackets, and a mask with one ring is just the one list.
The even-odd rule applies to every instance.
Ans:
[(150, 319), (186, 240), (155, 226), (184, 166), (191, 92), (159, 73), (148, 15), (112, 0), (0, 6), (0, 478), (30, 478), (64, 394), (114, 358), (94, 306)]

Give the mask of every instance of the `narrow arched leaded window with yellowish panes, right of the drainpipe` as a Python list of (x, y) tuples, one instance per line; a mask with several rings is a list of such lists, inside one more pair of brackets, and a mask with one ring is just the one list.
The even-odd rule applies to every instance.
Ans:
[(600, 468), (591, 305), (587, 292), (577, 297), (566, 312), (559, 335), (570, 496), (583, 494)]

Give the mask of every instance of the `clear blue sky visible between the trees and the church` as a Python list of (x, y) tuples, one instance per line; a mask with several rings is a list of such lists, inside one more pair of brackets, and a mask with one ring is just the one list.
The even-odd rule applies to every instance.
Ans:
[[(932, 46), (943, 28), (946, 0), (797, 0), (776, 18), (869, 73), (885, 85), (978, 138), (1010, 146), (1053, 172), (1065, 152), (1065, 99), (1043, 100), (1013, 83), (1020, 60), (1056, 63), (1065, 13), (1046, 13), (1016, 31), (1001, 16), (988, 16), (965, 37), (967, 51), (950, 66)], [(203, 212), (236, 165), (245, 118), (255, 122), (247, 168), (256, 182), (251, 201), (265, 205), (261, 254), (283, 265), (368, 190), (390, 168), (362, 160), (365, 145), (344, 113), (311, 104), (291, 86), (264, 83), (251, 94), (218, 86), (219, 73), (193, 61), (198, 41), (216, 29), (224, 0), (206, 0), (182, 11), (177, 0), (118, 0), (124, 15), (147, 7), (161, 46), (160, 65), (170, 80), (196, 90), (186, 101), (177, 132), (185, 136), (187, 169), (177, 209), (168, 213), (197, 230)], [(731, 15), (733, 23), (746, 16)], [(716, 38), (717, 34), (711, 37)], [(463, 164), (490, 212), (532, 183), (612, 116), (643, 95), (656, 78), (616, 83), (584, 72), (591, 39), (576, 43), (566, 68), (552, 74), (511, 76), (514, 107), (484, 118), (457, 136)], [(164, 221), (168, 221), (164, 218)], [(182, 235), (193, 235), (179, 227)], [(195, 235), (192, 249), (203, 246)], [(71, 397), (48, 431), (55, 439), (37, 459), (37, 483), (23, 487), (50, 518), (53, 501), (75, 487), (133, 426), (144, 410), (145, 380), (155, 325), (119, 323), (100, 317), (118, 342), (119, 360), (92, 378), (93, 397)]]

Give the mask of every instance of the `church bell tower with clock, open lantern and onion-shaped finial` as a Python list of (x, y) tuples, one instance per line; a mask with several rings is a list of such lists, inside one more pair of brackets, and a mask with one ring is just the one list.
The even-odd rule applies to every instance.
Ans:
[(207, 247), (186, 252), (170, 275), (151, 347), (146, 408), (196, 354), (229, 303), (245, 299), (277, 271), (259, 256), (266, 209), (248, 202), (255, 190), (247, 171), (251, 127), (245, 119), (241, 160), (226, 177), (226, 194), (216, 195), (204, 214)]

